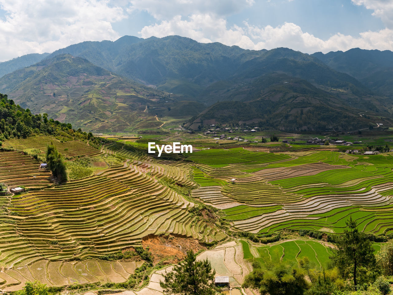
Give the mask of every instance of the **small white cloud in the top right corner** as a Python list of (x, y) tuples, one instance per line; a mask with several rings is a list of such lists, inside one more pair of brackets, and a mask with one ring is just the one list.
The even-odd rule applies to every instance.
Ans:
[(385, 26), (393, 29), (393, 1), (391, 0), (351, 0), (353, 4), (363, 5), (374, 10), (373, 15), (381, 18)]

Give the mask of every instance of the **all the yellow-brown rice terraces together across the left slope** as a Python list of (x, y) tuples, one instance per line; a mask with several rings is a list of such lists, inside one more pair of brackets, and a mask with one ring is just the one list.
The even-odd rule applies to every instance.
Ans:
[[(81, 142), (61, 143), (49, 136), (7, 144), (43, 152), (52, 141), (60, 152), (68, 148), (69, 156), (101, 153)], [(140, 245), (149, 234), (172, 233), (202, 242), (226, 237), (214, 221), (188, 213), (193, 202), (160, 184), (167, 177), (178, 186), (195, 185), (189, 164), (152, 159), (123, 148), (104, 149), (129, 160), (56, 186), (48, 186), (50, 172), (39, 170), (32, 157), (0, 152), (0, 181), (35, 189), (0, 196), (0, 265), (5, 270), (0, 288), (17, 290), (34, 279), (53, 286), (123, 282), (133, 272), (131, 265), (100, 262), (102, 255)]]

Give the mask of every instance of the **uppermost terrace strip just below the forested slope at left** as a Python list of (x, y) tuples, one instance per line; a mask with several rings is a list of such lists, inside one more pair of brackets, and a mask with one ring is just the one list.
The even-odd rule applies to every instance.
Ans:
[[(77, 157), (77, 156), (94, 156), (98, 155), (100, 152), (94, 148), (85, 144), (84, 142), (80, 142), (78, 140), (68, 141), (68, 142), (60, 142), (56, 138), (52, 136), (36, 136), (29, 138), (21, 138), (21, 139), (12, 139), (4, 142), (4, 146), (24, 151), (29, 149), (39, 149), (41, 154), (46, 153), (46, 147), (53, 143), (57, 147), (59, 153), (68, 157)], [(65, 151), (68, 149), (68, 151)]]

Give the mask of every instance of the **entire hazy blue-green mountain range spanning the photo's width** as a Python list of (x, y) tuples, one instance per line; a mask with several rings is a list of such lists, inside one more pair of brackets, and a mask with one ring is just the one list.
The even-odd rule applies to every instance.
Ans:
[[(244, 50), (180, 36), (82, 42), (0, 63), (0, 90), (93, 131), (258, 124), (356, 130), (392, 124), (393, 52)], [(376, 125), (377, 123), (377, 125)]]

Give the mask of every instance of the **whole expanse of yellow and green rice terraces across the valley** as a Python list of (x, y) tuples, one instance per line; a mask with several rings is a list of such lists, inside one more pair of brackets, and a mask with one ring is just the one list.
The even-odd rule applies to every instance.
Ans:
[[(0, 182), (28, 191), (0, 196), (0, 288), (15, 291), (31, 280), (48, 286), (126, 282), (143, 259), (103, 257), (146, 248), (152, 237), (191, 240), (202, 247), (196, 250), (217, 245), (202, 257), (241, 284), (250, 258), (307, 256), (323, 268), (334, 247), (296, 235), (264, 245), (237, 238), (244, 232), (260, 239), (283, 230), (340, 234), (352, 217), (365, 232), (393, 233), (393, 153), (202, 149), (203, 142), (198, 151), (162, 159), (147, 155), (144, 142), (103, 140), (100, 149), (51, 136), (4, 142)], [(67, 154), (69, 169), (83, 163), (81, 177), (50, 182), (50, 171), (39, 169), (36, 159), (51, 143)], [(140, 288), (161, 292), (154, 281), (160, 274), (149, 275), (153, 287)]]

